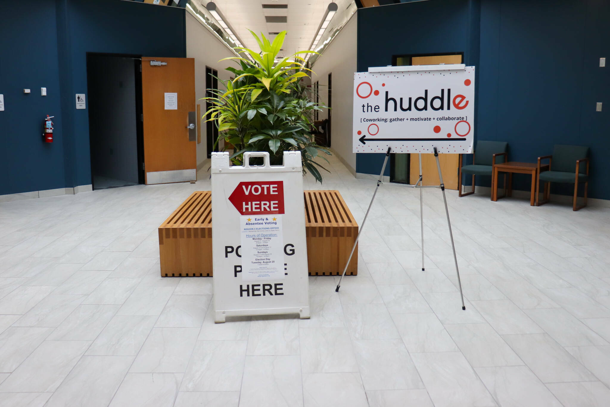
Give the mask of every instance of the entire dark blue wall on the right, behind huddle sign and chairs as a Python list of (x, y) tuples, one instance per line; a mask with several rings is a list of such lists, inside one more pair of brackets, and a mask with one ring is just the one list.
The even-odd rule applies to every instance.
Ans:
[[(389, 65), (393, 54), (464, 51), (477, 68), (476, 138), (509, 142), (510, 159), (529, 162), (554, 144), (590, 146), (589, 196), (610, 199), (609, 109), (595, 112), (596, 102), (610, 103), (610, 71), (599, 67), (610, 2), (429, 0), (358, 13), (359, 71)], [(356, 171), (378, 173), (381, 161), (359, 154)], [(529, 190), (529, 180), (515, 175), (514, 188)]]

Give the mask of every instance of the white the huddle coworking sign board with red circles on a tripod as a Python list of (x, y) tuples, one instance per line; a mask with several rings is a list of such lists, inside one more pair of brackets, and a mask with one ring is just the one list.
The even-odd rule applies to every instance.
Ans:
[(353, 100), (354, 153), (472, 153), (475, 67), (369, 68)]

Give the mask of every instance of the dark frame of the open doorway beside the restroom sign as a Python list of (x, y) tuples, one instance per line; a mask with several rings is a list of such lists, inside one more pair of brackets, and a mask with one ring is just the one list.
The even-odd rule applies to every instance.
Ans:
[[(87, 95), (89, 95), (89, 77), (90, 77), (90, 62), (89, 57), (120, 57), (134, 60), (134, 82), (135, 82), (135, 142), (137, 145), (137, 165), (138, 165), (138, 184), (145, 183), (145, 164), (144, 164), (144, 127), (142, 113), (142, 55), (138, 54), (117, 54), (115, 52), (86, 52), (85, 61), (87, 66)], [(91, 106), (91, 105), (90, 105)], [(91, 126), (91, 109), (87, 108), (87, 118), (89, 126)], [(89, 131), (89, 129), (87, 129)], [(89, 165), (91, 166), (91, 133), (89, 132)], [(91, 185), (95, 189), (93, 182), (93, 171), (91, 170)]]

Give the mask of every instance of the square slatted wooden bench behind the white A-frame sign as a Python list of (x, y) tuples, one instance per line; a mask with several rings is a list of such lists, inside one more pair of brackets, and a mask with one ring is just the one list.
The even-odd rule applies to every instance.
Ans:
[[(340, 275), (358, 225), (339, 191), (304, 191), (309, 275)], [(195, 191), (159, 226), (162, 277), (212, 276), (212, 194)], [(347, 275), (357, 275), (357, 248)]]

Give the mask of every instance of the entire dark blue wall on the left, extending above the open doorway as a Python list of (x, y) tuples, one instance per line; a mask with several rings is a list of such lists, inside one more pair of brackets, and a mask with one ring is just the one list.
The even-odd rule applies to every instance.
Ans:
[[(87, 52), (185, 57), (185, 10), (121, 0), (2, 1), (0, 16), (0, 195), (91, 184), (88, 109), (76, 110), (74, 101), (87, 93)], [(46, 114), (56, 116), (51, 145), (41, 142)]]

